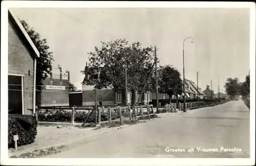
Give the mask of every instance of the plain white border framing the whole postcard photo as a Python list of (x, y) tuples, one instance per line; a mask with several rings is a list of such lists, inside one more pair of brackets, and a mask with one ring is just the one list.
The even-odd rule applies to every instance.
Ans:
[[(251, 102), (250, 155), (251, 158), (108, 158), (108, 159), (45, 159), (8, 158), (7, 102), (8, 75), (8, 8), (250, 8), (250, 98), (255, 101), (255, 4), (250, 2), (57, 2), (57, 1), (3, 1), (1, 5), (1, 164), (5, 165), (253, 165), (255, 159), (255, 104)], [(254, 121), (253, 121), (254, 120)]]

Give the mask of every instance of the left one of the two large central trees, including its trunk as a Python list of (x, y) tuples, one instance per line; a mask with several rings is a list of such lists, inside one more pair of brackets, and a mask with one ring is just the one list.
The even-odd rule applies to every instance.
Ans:
[[(111, 42), (101, 41), (101, 48), (95, 46), (95, 51), (89, 54), (89, 67), (98, 69), (99, 79), (86, 79), (88, 85), (95, 85), (97, 89), (110, 87), (115, 92), (115, 104), (117, 104), (117, 91), (124, 87), (124, 64), (128, 42), (125, 39), (117, 39)], [(86, 69), (81, 71), (87, 74)], [(90, 74), (90, 73), (89, 73)]]

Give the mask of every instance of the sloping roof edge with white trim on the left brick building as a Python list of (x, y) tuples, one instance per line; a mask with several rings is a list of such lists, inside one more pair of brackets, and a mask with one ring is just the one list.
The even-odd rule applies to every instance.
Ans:
[(25, 39), (28, 41), (28, 43), (31, 46), (32, 50), (36, 54), (36, 57), (40, 57), (40, 53), (36, 49), (36, 46), (33, 43), (33, 41), (31, 40), (31, 38), (29, 37), (29, 34), (26, 32), (25, 28), (23, 27), (22, 23), (19, 21), (18, 17), (16, 17), (16, 15), (10, 9), (8, 10), (8, 16), (9, 16), (8, 19), (9, 20), (13, 20), (11, 22), (15, 23), (15, 25), (18, 27), (18, 29), (22, 32), (22, 34), (24, 35)]

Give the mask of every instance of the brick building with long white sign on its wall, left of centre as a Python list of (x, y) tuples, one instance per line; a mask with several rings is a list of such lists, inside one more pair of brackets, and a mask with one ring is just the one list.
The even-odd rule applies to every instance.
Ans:
[(62, 67), (52, 68), (52, 73), (37, 90), (37, 106), (69, 106), (70, 72), (62, 72)]

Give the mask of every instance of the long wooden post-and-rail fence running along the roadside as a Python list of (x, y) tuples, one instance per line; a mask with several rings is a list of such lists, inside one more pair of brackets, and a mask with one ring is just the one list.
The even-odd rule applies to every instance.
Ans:
[[(68, 107), (68, 106), (57, 106), (57, 107), (38, 107), (36, 109), (36, 117), (38, 120), (38, 114), (41, 111), (52, 111), (52, 110), (63, 110), (63, 109), (69, 109), (72, 111), (71, 117), (69, 117), (68, 121), (65, 122), (70, 122), (71, 124), (75, 124), (75, 112), (78, 110), (88, 110), (91, 113), (95, 111), (96, 116), (94, 117), (94, 121), (97, 125), (101, 125), (102, 123), (109, 123), (111, 126), (112, 122), (120, 122), (123, 123), (123, 121), (133, 121), (133, 120), (138, 120), (139, 117), (142, 117), (144, 119), (144, 115), (146, 113), (147, 118), (150, 119), (150, 116), (155, 113), (163, 113), (163, 112), (177, 112), (177, 110), (183, 110), (183, 109), (194, 109), (194, 108), (201, 108), (206, 105), (210, 104), (216, 104), (215, 102), (212, 103), (205, 103), (203, 101), (200, 102), (189, 102), (184, 105), (184, 103), (170, 103), (166, 104), (160, 107), (159, 112), (156, 112), (154, 110), (153, 105), (128, 105), (128, 106), (99, 106), (97, 107), (97, 111), (95, 111), (95, 106), (76, 106), (76, 107)], [(221, 103), (219, 103), (221, 104)], [(145, 112), (146, 110), (146, 112)], [(88, 113), (89, 113), (88, 112)], [(114, 114), (113, 114), (114, 113)], [(70, 114), (69, 114), (70, 115)], [(89, 114), (87, 114), (89, 116)], [(101, 115), (104, 115), (104, 121), (101, 122)], [(112, 116), (115, 115), (115, 118), (113, 119)], [(87, 116), (87, 120), (88, 120)], [(91, 115), (92, 116), (92, 115)], [(97, 118), (96, 118), (97, 117)], [(81, 119), (80, 119), (81, 120)], [(84, 119), (82, 118), (84, 121)], [(40, 121), (40, 120), (39, 120)], [(51, 121), (51, 120), (50, 120)], [(47, 121), (47, 122), (50, 122)], [(53, 121), (52, 121), (53, 122)], [(55, 121), (57, 122), (57, 121)], [(76, 121), (77, 122), (77, 121)], [(82, 122), (79, 122), (82, 123)], [(84, 122), (85, 123), (85, 122)], [(83, 124), (84, 124), (83, 123)]]

